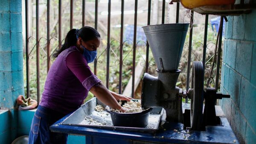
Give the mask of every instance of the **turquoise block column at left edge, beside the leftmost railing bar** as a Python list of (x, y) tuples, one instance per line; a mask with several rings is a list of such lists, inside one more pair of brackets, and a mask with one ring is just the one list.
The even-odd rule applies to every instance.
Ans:
[(12, 109), (24, 94), (21, 0), (0, 4), (0, 107)]

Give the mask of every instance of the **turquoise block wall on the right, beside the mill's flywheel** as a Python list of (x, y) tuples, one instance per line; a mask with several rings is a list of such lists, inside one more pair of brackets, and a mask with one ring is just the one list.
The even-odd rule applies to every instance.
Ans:
[(256, 143), (256, 10), (228, 17), (220, 105), (240, 143)]

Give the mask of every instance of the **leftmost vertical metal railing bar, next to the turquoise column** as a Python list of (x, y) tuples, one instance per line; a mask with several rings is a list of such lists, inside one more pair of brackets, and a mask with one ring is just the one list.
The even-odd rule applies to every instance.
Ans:
[(28, 0), (25, 1), (25, 19), (26, 19), (26, 94), (27, 98), (30, 97), (29, 91), (29, 18), (28, 18)]

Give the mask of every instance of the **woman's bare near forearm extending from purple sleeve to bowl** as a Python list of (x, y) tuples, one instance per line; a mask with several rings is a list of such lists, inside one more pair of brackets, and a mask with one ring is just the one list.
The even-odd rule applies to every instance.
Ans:
[(93, 95), (96, 96), (97, 99), (99, 99), (104, 104), (110, 106), (111, 108), (120, 110), (122, 112), (125, 111), (125, 108), (121, 107), (121, 105), (116, 101), (114, 96), (105, 87), (105, 85), (102, 84), (102, 82), (99, 82), (97, 85), (94, 85), (90, 89), (90, 92), (93, 93)]

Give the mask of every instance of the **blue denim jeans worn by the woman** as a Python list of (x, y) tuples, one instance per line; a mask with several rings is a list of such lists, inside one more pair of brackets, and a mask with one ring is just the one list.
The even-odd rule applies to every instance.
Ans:
[(55, 110), (38, 106), (29, 132), (29, 144), (67, 144), (67, 134), (53, 133), (49, 127), (64, 117)]

